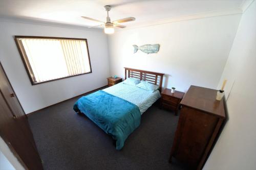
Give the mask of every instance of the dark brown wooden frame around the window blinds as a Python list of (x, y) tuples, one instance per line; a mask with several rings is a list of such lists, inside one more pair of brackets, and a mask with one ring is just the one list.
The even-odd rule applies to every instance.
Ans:
[[(89, 65), (90, 65), (90, 72), (86, 72), (86, 73), (82, 73), (82, 74), (79, 74), (79, 75), (73, 75), (73, 76), (67, 76), (67, 77), (62, 77), (62, 78), (58, 78), (58, 79), (53, 79), (53, 80), (47, 80), (47, 81), (43, 81), (43, 82), (34, 82), (33, 81), (33, 78), (31, 77), (31, 74), (30, 74), (30, 69), (29, 67), (30, 66), (30, 63), (27, 64), (27, 61), (26, 61), (26, 56), (23, 55), (23, 51), (22, 49), (19, 47), (19, 42), (18, 42), (18, 39), (19, 38), (34, 38), (34, 39), (69, 39), (69, 40), (83, 40), (83, 41), (86, 41), (86, 45), (87, 45), (87, 54), (88, 54), (88, 59), (89, 59)], [(89, 47), (88, 47), (88, 41), (86, 38), (65, 38), (65, 37), (45, 37), (45, 36), (20, 36), (20, 35), (15, 35), (14, 36), (14, 40), (15, 40), (15, 43), (16, 43), (16, 46), (18, 48), (18, 52), (19, 52), (19, 55), (20, 57), (22, 58), (22, 61), (23, 61), (23, 64), (25, 66), (25, 69), (27, 71), (27, 74), (28, 74), (28, 77), (29, 77), (29, 80), (31, 82), (31, 85), (37, 85), (37, 84), (41, 84), (41, 83), (47, 83), (47, 82), (52, 82), (52, 81), (56, 81), (56, 80), (61, 80), (61, 79), (66, 79), (66, 78), (71, 78), (71, 77), (75, 77), (75, 76), (80, 76), (80, 75), (86, 75), (86, 74), (90, 74), (92, 73), (92, 65), (91, 65), (91, 59), (90, 59), (90, 54), (89, 54)], [(26, 52), (25, 52), (26, 53)]]

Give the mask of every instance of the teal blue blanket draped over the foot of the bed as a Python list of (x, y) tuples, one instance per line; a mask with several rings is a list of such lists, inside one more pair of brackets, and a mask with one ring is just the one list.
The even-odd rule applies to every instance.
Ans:
[(138, 106), (102, 90), (80, 98), (74, 110), (87, 115), (111, 135), (116, 140), (117, 150), (123, 148), (125, 139), (140, 125)]

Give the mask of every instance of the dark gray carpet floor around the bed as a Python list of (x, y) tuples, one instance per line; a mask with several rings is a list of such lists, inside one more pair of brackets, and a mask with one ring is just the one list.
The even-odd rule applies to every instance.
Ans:
[(153, 105), (121, 151), (88, 117), (76, 114), (78, 98), (28, 116), (44, 169), (185, 169), (168, 163), (179, 116)]

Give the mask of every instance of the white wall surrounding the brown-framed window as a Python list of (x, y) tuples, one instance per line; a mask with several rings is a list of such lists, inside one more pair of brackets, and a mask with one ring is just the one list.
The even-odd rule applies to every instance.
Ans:
[[(26, 113), (47, 107), (107, 84), (108, 41), (102, 30), (0, 21), (0, 61)], [(92, 74), (32, 86), (13, 35), (87, 38)]]

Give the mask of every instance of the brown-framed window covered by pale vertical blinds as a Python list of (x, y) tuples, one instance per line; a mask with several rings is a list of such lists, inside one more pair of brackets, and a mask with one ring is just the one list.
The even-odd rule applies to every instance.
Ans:
[(32, 85), (92, 72), (87, 39), (14, 37)]

